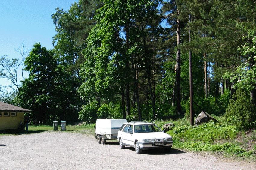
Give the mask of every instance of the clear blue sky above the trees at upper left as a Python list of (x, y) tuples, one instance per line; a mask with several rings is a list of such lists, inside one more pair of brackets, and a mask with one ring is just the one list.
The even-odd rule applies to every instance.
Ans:
[[(56, 34), (51, 19), (52, 13), (55, 13), (57, 7), (68, 10), (71, 4), (77, 1), (0, 0), (0, 56), (19, 58), (20, 55), (15, 49), (18, 49), (22, 42), (29, 51), (36, 42), (52, 49), (52, 37)], [(0, 78), (0, 85), (6, 86), (10, 83)]]

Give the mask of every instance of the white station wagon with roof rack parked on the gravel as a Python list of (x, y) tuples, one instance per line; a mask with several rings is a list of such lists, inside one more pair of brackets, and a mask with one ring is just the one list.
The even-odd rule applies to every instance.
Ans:
[(157, 125), (148, 122), (124, 123), (117, 134), (120, 148), (125, 146), (135, 148), (137, 154), (146, 149), (164, 149), (169, 152), (173, 139), (164, 133)]

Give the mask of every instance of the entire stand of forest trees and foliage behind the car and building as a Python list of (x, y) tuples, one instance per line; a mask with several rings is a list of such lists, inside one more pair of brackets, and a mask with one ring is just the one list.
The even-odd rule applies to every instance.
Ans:
[(189, 117), (190, 49), (194, 116), (254, 128), (255, 14), (255, 1), (79, 0), (56, 8), (53, 49), (34, 44), (23, 81), (18, 59), (0, 58), (0, 76), (16, 86), (0, 87), (0, 100), (32, 110), (33, 124)]

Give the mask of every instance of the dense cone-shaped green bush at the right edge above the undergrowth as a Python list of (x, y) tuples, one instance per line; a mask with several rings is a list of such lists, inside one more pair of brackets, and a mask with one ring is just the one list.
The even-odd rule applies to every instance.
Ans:
[(226, 110), (226, 121), (236, 125), (238, 130), (248, 130), (255, 127), (256, 107), (251, 102), (249, 94), (242, 88), (237, 89)]

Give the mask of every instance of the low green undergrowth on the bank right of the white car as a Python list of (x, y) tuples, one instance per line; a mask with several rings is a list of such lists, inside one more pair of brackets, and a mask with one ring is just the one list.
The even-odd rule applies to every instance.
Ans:
[[(245, 138), (238, 140), (239, 131), (236, 130), (236, 126), (226, 124), (223, 117), (216, 119), (219, 123), (210, 121), (199, 126), (191, 126), (185, 118), (155, 123), (159, 127), (170, 122), (174, 124), (167, 133), (173, 137), (173, 146), (176, 148), (191, 151), (220, 151), (225, 155), (237, 157), (256, 157), (256, 145), (248, 148), (245, 146)], [(252, 144), (255, 141), (254, 135), (247, 139)]]

